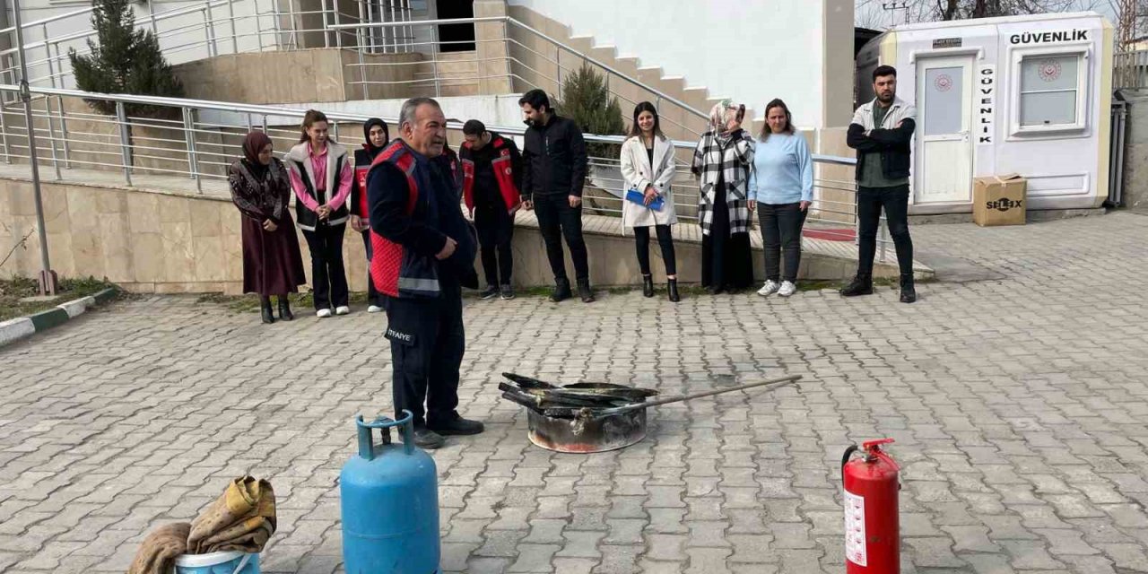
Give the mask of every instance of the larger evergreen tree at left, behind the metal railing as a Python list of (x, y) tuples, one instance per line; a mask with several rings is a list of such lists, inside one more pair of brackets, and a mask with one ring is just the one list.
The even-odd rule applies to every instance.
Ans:
[[(92, 26), (96, 41), (87, 40), (90, 55), (68, 52), (76, 85), (87, 92), (183, 98), (184, 86), (172, 73), (160, 51), (160, 40), (149, 30), (135, 29), (131, 0), (94, 0)], [(115, 102), (86, 100), (101, 114), (116, 113)], [(170, 108), (127, 104), (132, 116), (155, 116)]]

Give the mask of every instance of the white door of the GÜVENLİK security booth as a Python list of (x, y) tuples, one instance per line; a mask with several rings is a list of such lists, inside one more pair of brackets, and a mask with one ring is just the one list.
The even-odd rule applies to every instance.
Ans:
[(972, 57), (917, 61), (914, 203), (972, 201)]

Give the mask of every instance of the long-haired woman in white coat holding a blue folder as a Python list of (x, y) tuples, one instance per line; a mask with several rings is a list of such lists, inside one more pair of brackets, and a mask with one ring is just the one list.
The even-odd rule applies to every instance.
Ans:
[(666, 264), (669, 300), (681, 301), (677, 294), (677, 262), (669, 226), (677, 223), (674, 212), (674, 144), (662, 133), (658, 110), (650, 102), (634, 108), (634, 123), (629, 139), (622, 144), (622, 179), (627, 195), (622, 201), (622, 225), (634, 228), (637, 240), (638, 265), (642, 267), (642, 293), (653, 296), (653, 277), (650, 274), (650, 227), (658, 234), (661, 258)]

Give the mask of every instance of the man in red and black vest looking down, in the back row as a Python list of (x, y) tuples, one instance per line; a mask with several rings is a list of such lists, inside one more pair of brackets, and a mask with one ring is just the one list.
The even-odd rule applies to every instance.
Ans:
[(463, 161), (463, 200), (479, 232), (479, 249), (487, 288), (482, 298), (514, 298), (511, 287), (514, 214), (522, 204), (522, 154), (514, 141), (478, 119), (463, 125), (466, 141), (459, 149)]

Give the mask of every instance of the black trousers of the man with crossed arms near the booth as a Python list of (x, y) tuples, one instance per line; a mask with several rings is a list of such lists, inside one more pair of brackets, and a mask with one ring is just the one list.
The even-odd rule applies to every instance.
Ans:
[(877, 226), (885, 210), (889, 234), (897, 248), (901, 274), (913, 273), (913, 239), (909, 238), (909, 186), (858, 187), (858, 273), (872, 274), (877, 254)]

